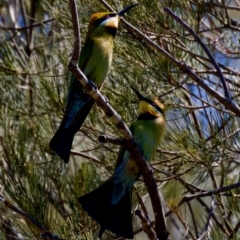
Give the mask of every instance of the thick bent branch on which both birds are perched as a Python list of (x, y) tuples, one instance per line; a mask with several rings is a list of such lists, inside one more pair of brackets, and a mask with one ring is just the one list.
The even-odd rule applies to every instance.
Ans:
[(144, 160), (141, 151), (139, 150), (136, 142), (134, 141), (132, 134), (126, 124), (122, 121), (117, 112), (106, 102), (106, 99), (101, 95), (98, 89), (89, 83), (86, 76), (78, 68), (78, 58), (80, 54), (80, 27), (78, 24), (78, 16), (76, 9), (76, 1), (69, 0), (73, 32), (75, 37), (74, 50), (71, 61), (69, 63), (69, 71), (71, 71), (75, 77), (86, 88), (87, 93), (96, 101), (98, 106), (104, 111), (109, 120), (118, 128), (126, 141), (126, 148), (130, 153), (130, 156), (137, 162), (140, 172), (143, 176), (145, 185), (148, 189), (149, 196), (152, 202), (153, 212), (155, 214), (155, 230), (159, 239), (168, 239), (169, 233), (166, 229), (165, 217), (162, 211), (161, 199), (158, 193), (158, 187), (156, 180), (153, 177), (153, 171), (149, 167), (148, 163)]

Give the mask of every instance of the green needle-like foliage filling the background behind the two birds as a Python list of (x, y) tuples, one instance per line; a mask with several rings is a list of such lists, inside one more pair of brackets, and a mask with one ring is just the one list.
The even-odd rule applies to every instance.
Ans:
[[(104, 1), (77, 2), (83, 44), (91, 14), (106, 8)], [(121, 135), (101, 109), (94, 106), (74, 139), (72, 148), (81, 152), (81, 156), (72, 153), (70, 163), (64, 165), (48, 147), (64, 114), (70, 80), (68, 62), (74, 38), (68, 4), (60, 0), (0, 4), (1, 195), (61, 238), (96, 239), (99, 226), (83, 212), (77, 197), (95, 189), (113, 172), (118, 147), (99, 144), (98, 135)], [(117, 10), (131, 2), (108, 1), (108, 4)], [(232, 54), (238, 53), (239, 47), (236, 41), (239, 29), (229, 25), (230, 10), (213, 1), (143, 0), (125, 17), (223, 94), (206, 53), (163, 11), (165, 6), (202, 37), (212, 54), (218, 51), (224, 57), (229, 57), (230, 50)], [(221, 70), (234, 102), (239, 103), (239, 74), (231, 65), (231, 58), (228, 61), (232, 70), (224, 66)], [(121, 24), (115, 38), (111, 72), (101, 92), (128, 125), (137, 116), (136, 98), (129, 85), (158, 96), (167, 108), (167, 133), (152, 167), (166, 203), (165, 212), (172, 211), (167, 217), (171, 238), (197, 239), (206, 232), (209, 239), (239, 239), (238, 188), (214, 196), (212, 214), (211, 197), (178, 206), (186, 195), (239, 181), (239, 116)], [(143, 181), (136, 187), (141, 196), (147, 194)], [(136, 196), (133, 197), (133, 206), (138, 206)], [(12, 239), (13, 232), (23, 239), (40, 239), (42, 232), (32, 222), (4, 205), (0, 205), (0, 213), (1, 239)], [(211, 220), (207, 224), (209, 215)], [(139, 227), (136, 221), (134, 226), (136, 230)], [(140, 236), (137, 234), (136, 238)], [(110, 233), (104, 237), (112, 239)]]

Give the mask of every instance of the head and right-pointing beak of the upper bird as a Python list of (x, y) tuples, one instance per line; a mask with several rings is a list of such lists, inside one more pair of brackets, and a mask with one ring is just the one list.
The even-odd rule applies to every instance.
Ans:
[(102, 35), (103, 33), (108, 33), (115, 37), (120, 18), (137, 5), (138, 3), (128, 6), (118, 13), (102, 12), (93, 14), (88, 25), (87, 37), (90, 38), (91, 36)]

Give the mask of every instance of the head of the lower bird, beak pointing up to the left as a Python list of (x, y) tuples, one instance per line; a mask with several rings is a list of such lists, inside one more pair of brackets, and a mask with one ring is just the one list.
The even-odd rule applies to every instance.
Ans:
[(139, 99), (139, 115), (149, 114), (154, 117), (165, 117), (164, 105), (157, 98), (144, 97), (136, 88), (131, 86)]

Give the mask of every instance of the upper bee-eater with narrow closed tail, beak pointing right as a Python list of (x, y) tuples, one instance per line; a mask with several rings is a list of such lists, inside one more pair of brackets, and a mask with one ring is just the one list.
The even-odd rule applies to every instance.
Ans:
[[(118, 13), (102, 12), (91, 16), (85, 44), (79, 58), (79, 68), (88, 80), (101, 89), (110, 70), (113, 55), (113, 40), (120, 18), (131, 8), (130, 5)], [(49, 146), (65, 163), (69, 162), (75, 133), (80, 129), (94, 104), (81, 83), (71, 77), (64, 117)]]

